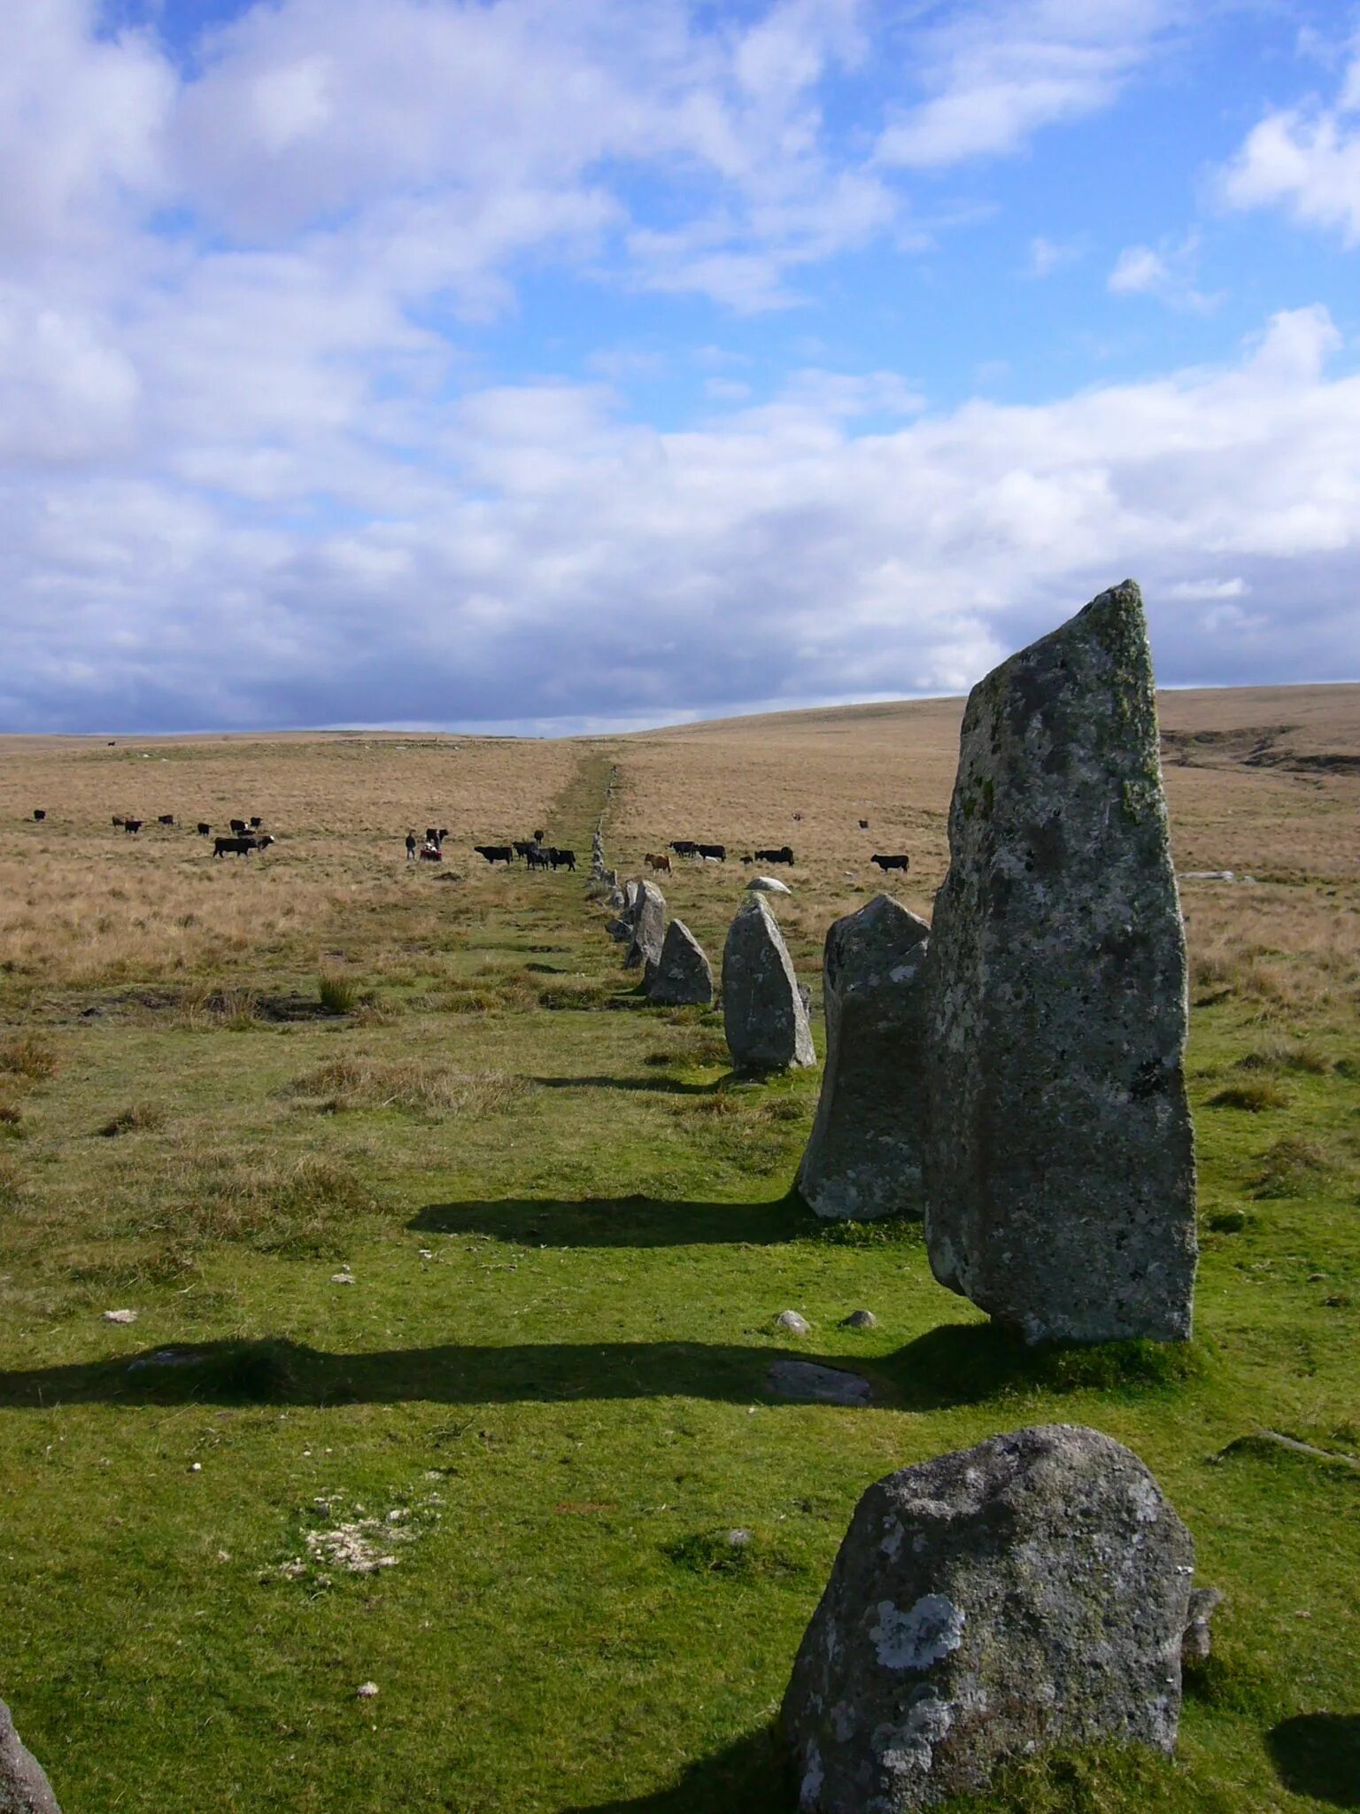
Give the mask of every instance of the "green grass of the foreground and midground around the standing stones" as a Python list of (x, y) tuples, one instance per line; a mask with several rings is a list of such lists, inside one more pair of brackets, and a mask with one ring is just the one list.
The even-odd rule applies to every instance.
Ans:
[[(597, 798), (586, 767), (553, 818), (577, 849)], [(1153, 1469), (1228, 1596), (1215, 1656), (1175, 1761), (1032, 1760), (956, 1807), (1355, 1805), (1356, 1477), (1222, 1453), (1360, 1453), (1345, 1023), (1197, 1014), (1195, 1342), (1032, 1353), (912, 1224), (800, 1208), (818, 1074), (729, 1078), (720, 1016), (640, 1003), (580, 878), (502, 902), (441, 891), (410, 947), (328, 927), (345, 1016), (299, 943), (192, 1000), (29, 996), (0, 1045), (0, 1694), (67, 1814), (772, 1814), (860, 1493), (1048, 1419)], [(876, 1404), (771, 1400), (780, 1353)], [(348, 1573), (341, 1526), (410, 1536)]]

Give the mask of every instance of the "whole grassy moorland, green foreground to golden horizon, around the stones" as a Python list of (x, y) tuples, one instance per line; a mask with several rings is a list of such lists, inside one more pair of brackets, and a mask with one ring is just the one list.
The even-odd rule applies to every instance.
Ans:
[[(647, 1005), (586, 898), (600, 816), (620, 874), (787, 842), (816, 1009), (874, 851), (930, 912), (959, 715), (0, 740), (0, 1696), (65, 1814), (774, 1814), (860, 1493), (1043, 1420), (1153, 1469), (1215, 1654), (1175, 1760), (957, 1807), (1360, 1805), (1360, 688), (1161, 697), (1186, 1346), (1019, 1351), (912, 1224), (820, 1226), (818, 1074), (733, 1078), (720, 1014)], [(268, 851), (194, 834), (248, 814)], [(408, 863), (426, 825), (444, 862)], [(539, 825), (582, 873), (471, 853)], [(662, 878), (714, 958), (743, 880)], [(794, 1351), (876, 1402), (771, 1399)]]

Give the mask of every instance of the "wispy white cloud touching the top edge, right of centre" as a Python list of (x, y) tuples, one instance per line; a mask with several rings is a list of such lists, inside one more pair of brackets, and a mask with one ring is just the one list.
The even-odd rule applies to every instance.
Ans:
[(1166, 0), (990, 0), (948, 9), (918, 45), (930, 100), (881, 134), (887, 165), (999, 156), (1037, 131), (1108, 107), (1151, 54)]

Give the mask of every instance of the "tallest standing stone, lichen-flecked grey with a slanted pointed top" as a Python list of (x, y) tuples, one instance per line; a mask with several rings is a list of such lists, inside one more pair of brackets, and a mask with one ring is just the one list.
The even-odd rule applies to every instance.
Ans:
[(927, 1246), (1026, 1341), (1177, 1341), (1186, 945), (1132, 580), (968, 698), (927, 980)]

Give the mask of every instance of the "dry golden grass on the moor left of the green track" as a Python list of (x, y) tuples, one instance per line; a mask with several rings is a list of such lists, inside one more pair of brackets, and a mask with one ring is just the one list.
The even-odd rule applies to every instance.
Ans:
[[(363, 907), (430, 898), (435, 865), (406, 862), (408, 827), (448, 827), (444, 873), (482, 887), (471, 845), (548, 825), (577, 760), (508, 738), (0, 738), (0, 970), (145, 981), (323, 940)], [(277, 838), (265, 853), (216, 860), (194, 833), (252, 814)]]

